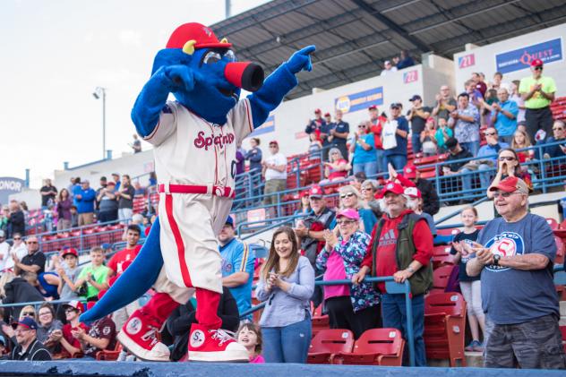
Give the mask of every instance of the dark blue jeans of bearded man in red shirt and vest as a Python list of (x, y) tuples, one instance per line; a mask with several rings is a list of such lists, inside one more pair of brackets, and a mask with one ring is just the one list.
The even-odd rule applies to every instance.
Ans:
[[(425, 331), (425, 295), (413, 296), (412, 307), (415, 365), (426, 366), (425, 339), (423, 338)], [(405, 309), (405, 295), (383, 294), (383, 327), (397, 329), (401, 331), (403, 338), (407, 339), (407, 311)], [(405, 351), (405, 355), (408, 356), (408, 346)]]

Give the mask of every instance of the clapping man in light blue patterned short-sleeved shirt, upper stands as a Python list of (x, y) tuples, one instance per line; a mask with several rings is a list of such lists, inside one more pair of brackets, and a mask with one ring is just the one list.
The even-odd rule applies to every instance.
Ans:
[(469, 103), (467, 93), (458, 96), (458, 108), (450, 113), (448, 125), (454, 128), (454, 135), (459, 144), (473, 156), (479, 151), (479, 113)]

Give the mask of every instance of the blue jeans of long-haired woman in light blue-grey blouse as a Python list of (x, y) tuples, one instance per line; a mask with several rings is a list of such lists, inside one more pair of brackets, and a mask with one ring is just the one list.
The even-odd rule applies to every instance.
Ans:
[(285, 327), (262, 327), (266, 363), (306, 363), (311, 345), (311, 318)]

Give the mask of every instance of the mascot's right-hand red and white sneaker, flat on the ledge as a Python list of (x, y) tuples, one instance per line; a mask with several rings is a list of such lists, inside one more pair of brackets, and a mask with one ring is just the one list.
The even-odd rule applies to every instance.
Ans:
[(225, 330), (208, 330), (198, 323), (191, 326), (189, 361), (236, 362), (250, 361), (247, 350)]

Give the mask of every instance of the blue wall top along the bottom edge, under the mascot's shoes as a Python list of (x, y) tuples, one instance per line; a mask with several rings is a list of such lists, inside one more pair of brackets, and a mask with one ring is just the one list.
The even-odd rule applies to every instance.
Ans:
[(521, 377), (564, 376), (565, 371), (484, 369), (484, 368), (411, 368), (363, 365), (313, 364), (202, 364), (202, 363), (136, 363), (61, 360), (50, 362), (0, 361), (0, 376), (57, 375), (68, 376), (136, 376), (136, 377), (289, 377), (289, 376), (458, 376)]

